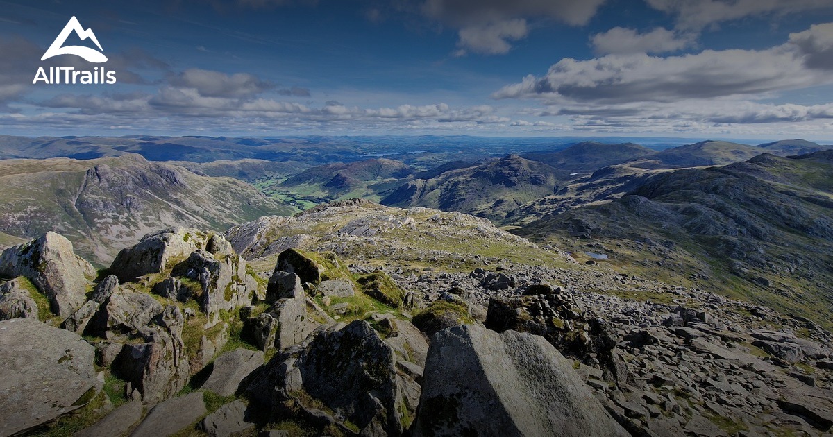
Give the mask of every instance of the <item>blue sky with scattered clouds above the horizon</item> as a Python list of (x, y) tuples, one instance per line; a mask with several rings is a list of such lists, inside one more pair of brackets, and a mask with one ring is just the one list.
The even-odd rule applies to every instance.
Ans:
[(833, 0), (0, 1), (0, 133), (833, 140)]

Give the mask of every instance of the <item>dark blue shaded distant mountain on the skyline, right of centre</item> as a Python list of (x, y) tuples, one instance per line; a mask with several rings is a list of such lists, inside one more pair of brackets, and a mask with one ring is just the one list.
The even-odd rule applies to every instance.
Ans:
[(580, 142), (561, 151), (524, 153), (521, 157), (531, 161), (541, 161), (559, 170), (591, 172), (601, 167), (635, 161), (654, 154), (656, 151), (631, 142), (622, 144)]

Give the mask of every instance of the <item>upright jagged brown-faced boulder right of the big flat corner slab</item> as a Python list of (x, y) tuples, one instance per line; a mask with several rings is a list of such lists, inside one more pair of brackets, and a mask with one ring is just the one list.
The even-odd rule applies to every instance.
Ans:
[(154, 404), (176, 394), (191, 375), (187, 351), (182, 342), (182, 312), (169, 305), (150, 326), (139, 328), (138, 342), (122, 347), (113, 363), (121, 375)]

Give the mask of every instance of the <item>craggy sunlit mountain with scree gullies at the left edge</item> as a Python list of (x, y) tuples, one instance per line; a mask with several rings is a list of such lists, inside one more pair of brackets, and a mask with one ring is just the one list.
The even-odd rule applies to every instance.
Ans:
[(0, 231), (25, 238), (58, 231), (97, 263), (160, 227), (222, 231), (292, 212), (242, 181), (198, 176), (138, 155), (5, 160), (0, 175)]

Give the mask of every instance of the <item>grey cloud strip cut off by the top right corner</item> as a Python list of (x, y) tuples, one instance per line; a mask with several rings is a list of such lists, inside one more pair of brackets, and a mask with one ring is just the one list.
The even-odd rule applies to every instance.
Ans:
[(743, 17), (833, 9), (830, 0), (646, 0), (657, 10), (676, 17), (682, 29), (703, 27)]

